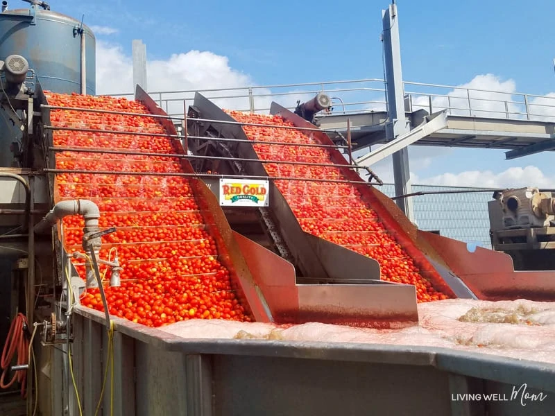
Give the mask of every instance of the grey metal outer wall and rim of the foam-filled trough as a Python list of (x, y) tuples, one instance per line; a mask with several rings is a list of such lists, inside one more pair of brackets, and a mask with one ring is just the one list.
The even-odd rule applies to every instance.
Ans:
[[(103, 314), (81, 307), (76, 313), (84, 317), (76, 325), (104, 331)], [(552, 415), (555, 406), (555, 365), (547, 363), (434, 347), (187, 340), (113, 320), (125, 339), (122, 354), (133, 357), (137, 367), (136, 410), (126, 416), (485, 416), (486, 411), (489, 416), (513, 416)], [(78, 341), (76, 348), (87, 346), (87, 339)], [(106, 347), (104, 340), (96, 354)], [(98, 367), (97, 359), (92, 356), (89, 361)], [(56, 369), (60, 371), (60, 367), (51, 371)], [(85, 384), (91, 385), (90, 379), (98, 374), (83, 372)], [(134, 385), (132, 380), (116, 378), (128, 388)], [(466, 405), (452, 396), (497, 393), (510, 399), (513, 387), (518, 390), (523, 383), (527, 392), (542, 392), (547, 398), (527, 401), (527, 406), (520, 404), (520, 397)], [(56, 399), (61, 395), (55, 391)]]

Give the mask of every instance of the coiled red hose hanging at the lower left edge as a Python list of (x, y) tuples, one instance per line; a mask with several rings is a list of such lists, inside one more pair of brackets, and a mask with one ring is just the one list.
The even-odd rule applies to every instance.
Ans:
[(12, 321), (10, 331), (6, 337), (6, 343), (4, 344), (0, 363), (3, 370), (2, 376), (0, 377), (0, 388), (10, 388), (17, 380), (22, 385), (21, 392), (23, 398), (26, 397), (25, 381), (27, 377), (27, 370), (17, 370), (8, 384), (4, 384), (4, 379), (6, 378), (6, 374), (8, 374), (12, 358), (16, 352), (17, 365), (28, 364), (29, 340), (24, 336), (24, 326), (28, 326), (27, 318), (23, 313), (18, 313)]

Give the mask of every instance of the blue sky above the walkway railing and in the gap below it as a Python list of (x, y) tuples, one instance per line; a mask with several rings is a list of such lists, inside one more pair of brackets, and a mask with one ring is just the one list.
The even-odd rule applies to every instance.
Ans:
[[(198, 83), (206, 88), (211, 83), (221, 87), (219, 79), (224, 76), (232, 77), (234, 86), (243, 81), (272, 85), (382, 78), (379, 35), (381, 10), (388, 1), (291, 2), (287, 6), (269, 1), (53, 0), (51, 7), (76, 18), (84, 13), (87, 25), (102, 26), (96, 32), (98, 51), (121, 60), (122, 71), (128, 71), (131, 41), (142, 39), (148, 60), (157, 62), (149, 66), (149, 87), (155, 71), (171, 61), (190, 71), (178, 85), (194, 88)], [(492, 74), (487, 81), (506, 92), (555, 92), (555, 2), (397, 3), (405, 80), (463, 85)], [(108, 34), (107, 28), (113, 33)], [(213, 55), (183, 55), (191, 50)], [(202, 78), (199, 72), (211, 76)], [(171, 72), (164, 74), (168, 78)], [(131, 91), (131, 85), (124, 89)], [(509, 162), (496, 150), (411, 147), (410, 151), (418, 182), (555, 187), (555, 175), (549, 169), (552, 153)], [(388, 178), (390, 166), (384, 162), (376, 169)], [(507, 171), (525, 166), (535, 168)]]

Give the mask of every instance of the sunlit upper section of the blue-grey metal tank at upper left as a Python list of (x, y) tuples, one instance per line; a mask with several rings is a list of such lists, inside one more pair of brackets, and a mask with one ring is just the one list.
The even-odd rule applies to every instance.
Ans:
[[(81, 88), (81, 35), (85, 37), (87, 94), (96, 94), (96, 40), (81, 22), (53, 12), (42, 1), (31, 8), (10, 10), (6, 1), (0, 13), (0, 60), (22, 55), (35, 71), (42, 89), (71, 94)], [(5, 4), (6, 3), (6, 4)]]

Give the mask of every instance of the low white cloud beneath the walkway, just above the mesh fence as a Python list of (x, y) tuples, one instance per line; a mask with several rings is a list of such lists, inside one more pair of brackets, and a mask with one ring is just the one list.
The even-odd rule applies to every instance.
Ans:
[(479, 188), (511, 188), (511, 187), (539, 187), (555, 188), (555, 176), (545, 175), (536, 166), (525, 168), (509, 168), (500, 173), (493, 171), (465, 171), (461, 173), (443, 173), (420, 180), (413, 178), (413, 183), (427, 185), (443, 185), (450, 187), (479, 187)]

